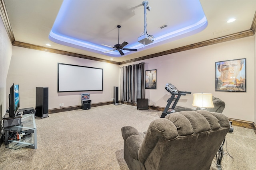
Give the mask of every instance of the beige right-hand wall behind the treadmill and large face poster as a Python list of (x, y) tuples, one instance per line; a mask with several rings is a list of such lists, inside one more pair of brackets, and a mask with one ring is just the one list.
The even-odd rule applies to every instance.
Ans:
[[(251, 36), (136, 62), (145, 62), (145, 70), (157, 70), (157, 89), (145, 89), (146, 98), (150, 105), (165, 107), (171, 94), (164, 87), (172, 83), (180, 91), (212, 93), (226, 103), (226, 116), (254, 122), (254, 48)], [(215, 62), (241, 58), (246, 58), (247, 92), (216, 92)], [(125, 65), (130, 64), (135, 63)], [(188, 94), (177, 106), (193, 108), (192, 102), (193, 95)]]

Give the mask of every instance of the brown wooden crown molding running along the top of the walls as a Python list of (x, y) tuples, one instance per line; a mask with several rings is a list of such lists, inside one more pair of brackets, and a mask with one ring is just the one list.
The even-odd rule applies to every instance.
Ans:
[(67, 52), (67, 51), (61, 51), (61, 50), (57, 50), (57, 49), (51, 49), (51, 48), (47, 48), (47, 47), (42, 47), (42, 46), (38, 46), (38, 45), (33, 45), (33, 44), (28, 44), (28, 43), (15, 41), (14, 34), (12, 32), (12, 27), (10, 25), (10, 21), (9, 21), (8, 14), (7, 14), (7, 11), (6, 11), (4, 0), (0, 0), (0, 16), (3, 20), (3, 22), (4, 22), (4, 26), (6, 28), (8, 36), (10, 38), (10, 41), (12, 42), (12, 45), (14, 45), (14, 46), (24, 47), (24, 48), (29, 48), (29, 49), (35, 49), (35, 50), (40, 50), (40, 51), (46, 51), (46, 52), (49, 52), (49, 53), (68, 55), (68, 56), (72, 56), (72, 57), (78, 57), (78, 58), (100, 61), (100, 62), (105, 62), (105, 63), (118, 64), (118, 65), (132, 63), (132, 62), (141, 61), (141, 60), (145, 60), (145, 59), (150, 59), (150, 58), (154, 58), (154, 57), (159, 57), (159, 56), (162, 56), (162, 55), (178, 53), (178, 52), (186, 51), (186, 50), (190, 50), (190, 49), (196, 49), (196, 48), (199, 48), (199, 47), (214, 45), (214, 44), (217, 44), (217, 43), (223, 43), (223, 42), (226, 42), (226, 41), (232, 41), (232, 40), (240, 39), (240, 38), (244, 38), (244, 37), (250, 37), (250, 36), (253, 36), (255, 34), (255, 31), (256, 31), (256, 12), (255, 12), (254, 13), (254, 18), (252, 20), (252, 25), (251, 25), (249, 30), (241, 31), (241, 32), (226, 35), (226, 36), (223, 36), (223, 37), (218, 37), (218, 38), (215, 38), (215, 39), (210, 39), (210, 40), (207, 40), (207, 41), (202, 41), (202, 42), (199, 42), (199, 43), (194, 43), (194, 44), (191, 44), (191, 45), (178, 47), (176, 49), (170, 49), (170, 50), (163, 51), (163, 52), (160, 52), (160, 53), (155, 53), (155, 54), (152, 54), (152, 55), (146, 55), (146, 56), (143, 56), (143, 57), (139, 57), (139, 58), (136, 58), (136, 59), (131, 59), (131, 60), (127, 60), (127, 61), (123, 61), (123, 62), (118, 63), (118, 62), (115, 62), (115, 61), (108, 61), (108, 60), (99, 59), (99, 58), (91, 57), (91, 56), (87, 56), (87, 55), (70, 53), (70, 52)]

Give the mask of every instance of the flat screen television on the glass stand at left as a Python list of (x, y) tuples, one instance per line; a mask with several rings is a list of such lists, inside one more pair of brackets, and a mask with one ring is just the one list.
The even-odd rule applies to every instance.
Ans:
[(9, 116), (15, 117), (20, 108), (19, 85), (12, 84), (9, 94)]

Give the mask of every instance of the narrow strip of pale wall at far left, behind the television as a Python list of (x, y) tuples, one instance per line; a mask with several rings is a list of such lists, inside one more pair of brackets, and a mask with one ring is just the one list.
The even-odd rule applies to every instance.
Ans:
[[(4, 116), (6, 107), (6, 78), (12, 57), (12, 44), (0, 19), (0, 115)], [(10, 89), (7, 88), (10, 91)], [(7, 98), (8, 99), (8, 98)]]

